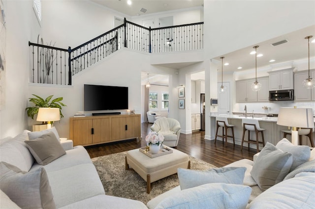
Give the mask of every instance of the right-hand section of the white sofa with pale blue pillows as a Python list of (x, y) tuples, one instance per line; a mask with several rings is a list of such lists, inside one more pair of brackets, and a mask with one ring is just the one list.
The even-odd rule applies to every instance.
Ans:
[[(224, 168), (232, 169), (245, 167), (244, 175), (239, 176), (244, 179), (243, 185), (209, 183), (209, 181), (222, 180), (218, 177), (211, 178), (210, 175), (206, 175), (207, 178), (203, 180), (204, 171), (191, 171), (192, 174), (187, 177), (188, 180), (194, 183), (204, 181), (205, 184), (181, 190), (181, 185), (187, 184), (183, 181), (187, 180), (178, 172), (181, 185), (152, 199), (147, 203), (147, 207), (149, 209), (315, 208), (315, 149), (310, 152), (308, 146), (294, 146), (284, 138), (277, 146), (270, 143), (266, 145), (254, 160), (241, 159), (224, 166)], [(260, 173), (257, 175), (257, 172)], [(230, 177), (232, 178), (224, 176), (223, 182), (238, 178), (234, 173)]]

